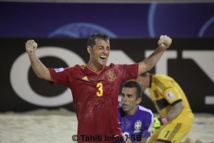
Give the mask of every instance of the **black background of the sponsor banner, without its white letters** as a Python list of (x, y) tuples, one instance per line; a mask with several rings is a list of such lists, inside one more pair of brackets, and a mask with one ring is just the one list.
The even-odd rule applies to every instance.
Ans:
[[(74, 111), (73, 103), (69, 103), (62, 106), (53, 106), (45, 107), (38, 106), (32, 103), (29, 103), (13, 90), (11, 86), (10, 79), (10, 70), (11, 65), (14, 63), (16, 58), (21, 54), (25, 53), (24, 43), (27, 39), (25, 38), (1, 38), (0, 43), (2, 48), (1, 50), (1, 79), (3, 86), (0, 90), (1, 100), (0, 100), (0, 109), (1, 112), (5, 111), (17, 111), (22, 112), (26, 110), (34, 110), (39, 108), (47, 109), (56, 109), (56, 108), (67, 108)], [(85, 63), (88, 60), (88, 54), (86, 52), (86, 39), (46, 39), (38, 38), (36, 39), (40, 43), (39, 48), (46, 46), (56, 46), (68, 49), (73, 51), (77, 55), (80, 55)], [(111, 47), (112, 52), (115, 50), (122, 50), (126, 53), (134, 62), (139, 62), (145, 58), (145, 50), (153, 50), (156, 47), (157, 39), (112, 39)], [(72, 48), (76, 47), (76, 48)], [(144, 48), (146, 47), (146, 48)], [(203, 47), (203, 50), (201, 49)], [(168, 49), (168, 51), (177, 51), (178, 57), (176, 59), (169, 59), (167, 64), (167, 73), (172, 76), (183, 88), (184, 92), (189, 99), (190, 105), (194, 112), (213, 112), (214, 105), (205, 104), (205, 96), (214, 95), (214, 84), (212, 80), (203, 72), (192, 59), (183, 59), (182, 51), (212, 51), (213, 52), (214, 41), (211, 38), (190, 38), (190, 39), (173, 39), (173, 44)], [(38, 49), (39, 49), (38, 48)], [(62, 55), (63, 57), (63, 55)], [(68, 66), (63, 60), (62, 57), (43, 57), (41, 60), (47, 67), (66, 67)], [(203, 57), (201, 57), (203, 58)], [(72, 57), (71, 57), (72, 59)], [(116, 62), (116, 61), (115, 61)], [(204, 63), (206, 64), (206, 63)], [(20, 65), (22, 68), (22, 65)], [(212, 67), (213, 68), (213, 67)], [(18, 69), (17, 69), (18, 70)], [(152, 69), (152, 73), (155, 73), (155, 68)], [(21, 73), (17, 72), (17, 76), (20, 76)], [(49, 82), (38, 79), (33, 73), (32, 69), (29, 67), (28, 70), (28, 80), (30, 87), (36, 93), (41, 96), (53, 97), (63, 91), (64, 87), (51, 85)], [(22, 84), (20, 80), (20, 84)], [(25, 90), (23, 88), (22, 90)], [(31, 93), (26, 93), (31, 94)], [(26, 96), (27, 96), (26, 95)], [(151, 101), (148, 97), (144, 96), (143, 106), (151, 108), (154, 110)]]

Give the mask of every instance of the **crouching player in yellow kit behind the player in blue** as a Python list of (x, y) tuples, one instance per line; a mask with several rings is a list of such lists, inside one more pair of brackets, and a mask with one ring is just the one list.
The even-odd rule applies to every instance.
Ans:
[(137, 81), (154, 102), (161, 127), (154, 131), (149, 143), (181, 143), (191, 130), (194, 115), (185, 93), (169, 76), (141, 74)]

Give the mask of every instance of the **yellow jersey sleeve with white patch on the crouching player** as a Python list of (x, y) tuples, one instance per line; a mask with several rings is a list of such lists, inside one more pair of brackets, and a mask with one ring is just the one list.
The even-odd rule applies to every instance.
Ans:
[(182, 100), (178, 91), (175, 88), (167, 88), (163, 93), (164, 98), (168, 101), (169, 104), (177, 103), (177, 101)]

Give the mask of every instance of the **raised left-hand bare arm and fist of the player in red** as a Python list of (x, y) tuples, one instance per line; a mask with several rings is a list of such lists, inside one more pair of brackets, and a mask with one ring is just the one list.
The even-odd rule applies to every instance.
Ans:
[(25, 48), (26, 48), (28, 57), (30, 59), (32, 69), (35, 72), (35, 74), (39, 78), (52, 81), (48, 68), (46, 68), (45, 65), (43, 65), (42, 62), (39, 60), (39, 58), (36, 56), (35, 51), (37, 48), (37, 43), (34, 40), (28, 40), (25, 43)]

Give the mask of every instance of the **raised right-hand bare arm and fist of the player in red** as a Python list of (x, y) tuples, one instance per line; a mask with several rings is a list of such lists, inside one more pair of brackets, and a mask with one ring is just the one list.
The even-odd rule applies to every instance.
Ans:
[(158, 47), (156, 50), (142, 62), (139, 63), (138, 75), (151, 70), (159, 61), (164, 51), (169, 48), (172, 43), (172, 39), (166, 35), (161, 35), (158, 40)]

